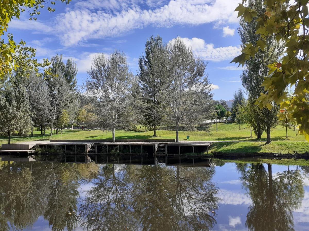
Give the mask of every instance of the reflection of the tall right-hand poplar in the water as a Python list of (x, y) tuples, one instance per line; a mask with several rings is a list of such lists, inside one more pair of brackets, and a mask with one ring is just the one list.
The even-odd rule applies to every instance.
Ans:
[(247, 214), (249, 230), (294, 230), (293, 209), (304, 197), (303, 179), (299, 171), (287, 170), (273, 176), (272, 165), (241, 168), (243, 187), (252, 199)]

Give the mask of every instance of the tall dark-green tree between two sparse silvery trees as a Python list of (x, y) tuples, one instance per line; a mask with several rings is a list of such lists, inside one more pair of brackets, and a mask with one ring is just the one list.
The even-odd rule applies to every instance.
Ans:
[(156, 126), (161, 124), (165, 114), (165, 105), (160, 100), (164, 75), (167, 73), (168, 52), (162, 42), (162, 38), (157, 35), (147, 39), (145, 45), (145, 55), (138, 59), (139, 74), (138, 81), (145, 99), (145, 119), (146, 123), (153, 127), (154, 135)]

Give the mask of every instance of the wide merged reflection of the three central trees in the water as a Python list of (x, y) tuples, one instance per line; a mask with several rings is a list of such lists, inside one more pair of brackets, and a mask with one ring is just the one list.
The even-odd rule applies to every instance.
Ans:
[[(118, 165), (117, 165), (118, 167)], [(213, 168), (102, 168), (81, 206), (88, 230), (208, 230), (215, 224)]]

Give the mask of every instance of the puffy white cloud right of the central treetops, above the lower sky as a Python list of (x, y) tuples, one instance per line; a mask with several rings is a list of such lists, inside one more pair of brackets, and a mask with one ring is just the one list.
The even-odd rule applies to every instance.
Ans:
[[(194, 52), (194, 55), (201, 57), (204, 60), (209, 61), (223, 61), (233, 59), (240, 54), (241, 48), (239, 47), (214, 47), (212, 43), (205, 43), (203, 39), (198, 38), (183, 38), (184, 42), (190, 46)], [(173, 43), (172, 39), (169, 43)]]

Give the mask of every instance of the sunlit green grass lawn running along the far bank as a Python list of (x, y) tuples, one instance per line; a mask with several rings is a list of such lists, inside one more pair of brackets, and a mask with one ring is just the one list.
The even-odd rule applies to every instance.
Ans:
[[(48, 131), (47, 131), (48, 132)], [(153, 131), (149, 132), (128, 132), (128, 131), (116, 131), (116, 139), (153, 139)], [(282, 127), (273, 128), (271, 130), (272, 144), (264, 145), (266, 141), (266, 133), (264, 132), (261, 140), (256, 140), (256, 136), (252, 132), (250, 137), (250, 128), (245, 125), (238, 128), (236, 123), (218, 123), (218, 132), (216, 132), (216, 124), (212, 125), (210, 133), (207, 132), (179, 132), (179, 139), (186, 140), (186, 136), (189, 135), (189, 140), (200, 141), (246, 141), (246, 142), (228, 142), (212, 145), (212, 151), (235, 153), (235, 152), (281, 152), (281, 153), (293, 153), (293, 152), (309, 152), (309, 143), (305, 140), (304, 136), (296, 136), (293, 129), (288, 129), (288, 138), (286, 138), (286, 130)], [(108, 131), (81, 131), (81, 130), (63, 130), (62, 137), (53, 135), (52, 139), (63, 140), (78, 140), (78, 139), (111, 139), (112, 132)], [(174, 131), (157, 131), (157, 136), (154, 139), (175, 139)], [(46, 133), (45, 136), (40, 135), (40, 131), (34, 132), (34, 136), (13, 136), (11, 137), (11, 143), (19, 143), (22, 141), (34, 141), (34, 140), (49, 140), (51, 137)], [(258, 141), (258, 142), (249, 142)], [(7, 136), (0, 136), (0, 144), (7, 144)]]

